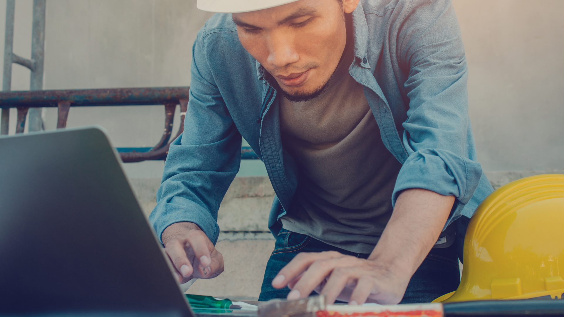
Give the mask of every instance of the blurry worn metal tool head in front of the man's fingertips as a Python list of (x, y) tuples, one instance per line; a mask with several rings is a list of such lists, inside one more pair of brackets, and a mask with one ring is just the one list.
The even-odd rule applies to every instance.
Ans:
[(258, 317), (310, 317), (325, 310), (325, 295), (301, 300), (270, 300), (258, 305)]

